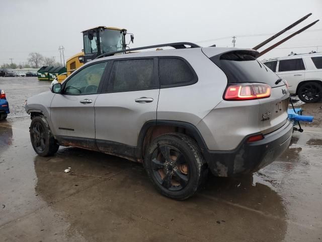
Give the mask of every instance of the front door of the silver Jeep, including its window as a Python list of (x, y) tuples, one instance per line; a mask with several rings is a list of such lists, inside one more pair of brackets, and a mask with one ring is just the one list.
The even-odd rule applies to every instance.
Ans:
[(86, 146), (96, 148), (94, 103), (102, 89), (106, 66), (107, 62), (88, 65), (64, 82), (63, 94), (55, 94), (50, 115), (56, 136), (81, 144), (88, 140)]

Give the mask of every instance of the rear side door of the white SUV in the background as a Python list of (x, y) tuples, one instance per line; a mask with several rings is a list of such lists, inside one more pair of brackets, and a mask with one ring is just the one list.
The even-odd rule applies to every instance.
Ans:
[(301, 57), (281, 59), (276, 74), (287, 81), (290, 93), (296, 94), (297, 85), (305, 79), (303, 59)]

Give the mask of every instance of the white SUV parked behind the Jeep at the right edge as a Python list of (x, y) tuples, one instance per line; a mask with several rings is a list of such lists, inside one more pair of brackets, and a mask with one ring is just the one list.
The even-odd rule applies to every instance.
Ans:
[(322, 53), (291, 54), (263, 63), (288, 83), (290, 94), (303, 102), (322, 98)]

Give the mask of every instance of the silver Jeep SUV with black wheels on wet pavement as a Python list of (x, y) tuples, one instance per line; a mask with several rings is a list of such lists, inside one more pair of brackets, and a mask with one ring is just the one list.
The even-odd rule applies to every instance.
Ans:
[(97, 58), (30, 97), (37, 154), (75, 146), (142, 162), (160, 193), (183, 200), (208, 170), (249, 174), (284, 152), (289, 91), (257, 51), (169, 45)]

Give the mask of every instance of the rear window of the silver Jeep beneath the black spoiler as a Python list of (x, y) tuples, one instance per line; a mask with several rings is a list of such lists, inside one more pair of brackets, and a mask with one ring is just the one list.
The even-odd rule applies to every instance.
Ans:
[(214, 55), (210, 59), (226, 74), (228, 83), (259, 82), (276, 86), (275, 82), (279, 77), (256, 59), (256, 53), (236, 50)]

